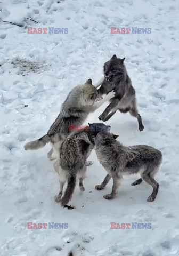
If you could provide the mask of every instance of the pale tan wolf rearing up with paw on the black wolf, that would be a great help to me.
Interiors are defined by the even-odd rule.
[[[47,134],[38,140],[28,142],[25,145],[25,149],[39,149],[44,147],[46,143],[51,142],[52,149],[48,152],[47,157],[50,160],[56,159],[61,143],[70,134],[69,125],[82,125],[88,114],[99,108],[105,101],[111,99],[113,95],[113,92],[104,98],[99,95],[97,89],[92,85],[92,79],[88,79],[83,85],[74,87],[63,102],[60,114]]]

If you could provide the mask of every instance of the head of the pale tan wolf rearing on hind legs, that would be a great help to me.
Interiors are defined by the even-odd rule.
[[[101,100],[102,97],[98,94],[97,89],[92,85],[92,79],[88,79],[84,84],[84,89],[82,93],[82,105],[91,106],[94,101],[97,102]]]

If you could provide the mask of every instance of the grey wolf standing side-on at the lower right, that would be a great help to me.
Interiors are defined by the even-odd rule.
[[[109,132],[99,132],[95,138],[95,151],[99,162],[108,172],[97,190],[104,189],[109,180],[113,179],[112,191],[105,195],[105,199],[112,199],[118,191],[123,175],[140,173],[141,178],[132,183],[132,186],[140,184],[143,180],[153,188],[147,201],[156,199],[159,184],[154,180],[154,175],[159,170],[162,154],[158,149],[147,145],[125,147],[116,140],[118,135]]]

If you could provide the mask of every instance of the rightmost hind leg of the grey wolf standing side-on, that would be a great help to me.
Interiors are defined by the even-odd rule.
[[[152,194],[148,197],[147,201],[148,202],[153,202],[154,199],[156,199],[157,193],[158,193],[158,189],[159,189],[159,184],[157,183],[156,180],[153,179],[153,176],[156,172],[153,172],[153,170],[151,170],[151,172],[149,171],[144,171],[142,173],[142,179],[147,182],[148,184],[150,184],[153,188]]]

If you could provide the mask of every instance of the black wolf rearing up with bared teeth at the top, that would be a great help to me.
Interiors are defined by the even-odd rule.
[[[112,90],[116,92],[115,97],[110,100],[110,104],[103,113],[99,116],[99,120],[108,121],[117,110],[121,113],[129,113],[137,118],[139,130],[143,131],[142,118],[137,110],[135,89],[132,86],[129,78],[124,59],[117,58],[116,55],[104,63],[103,71],[104,77],[95,85],[99,87],[99,95],[106,94]]]

